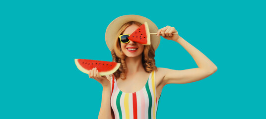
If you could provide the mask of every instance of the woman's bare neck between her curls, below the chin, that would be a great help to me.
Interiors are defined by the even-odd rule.
[[[127,64],[127,75],[133,75],[139,71],[145,71],[142,65],[142,54],[137,57],[127,57],[125,59]]]

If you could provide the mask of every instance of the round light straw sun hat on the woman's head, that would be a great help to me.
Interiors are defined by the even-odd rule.
[[[156,33],[159,29],[158,27],[148,18],[139,16],[139,15],[124,15],[116,18],[113,20],[107,27],[105,32],[105,42],[107,47],[110,51],[114,49],[114,42],[115,39],[118,37],[116,36],[118,30],[123,26],[125,23],[129,21],[137,21],[143,24],[145,21],[148,23],[150,33]],[[150,35],[150,42],[153,46],[154,50],[156,50],[160,44],[160,37],[157,35]]]

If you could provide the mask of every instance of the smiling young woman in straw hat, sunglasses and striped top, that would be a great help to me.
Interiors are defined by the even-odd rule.
[[[128,39],[141,24],[148,23],[151,45],[142,45]],[[163,87],[170,83],[191,83],[213,74],[217,67],[199,50],[185,41],[174,27],[158,30],[149,19],[139,15],[125,15],[112,21],[106,30],[106,44],[113,61],[120,68],[109,76],[100,76],[98,70],[89,71],[89,77],[103,86],[99,119],[156,119],[158,101]],[[160,36],[183,46],[196,61],[198,68],[173,70],[155,66],[155,50]]]

